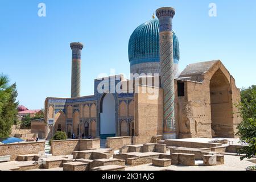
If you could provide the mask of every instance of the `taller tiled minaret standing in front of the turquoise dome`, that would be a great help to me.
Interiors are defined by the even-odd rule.
[[[163,88],[164,139],[175,139],[174,110],[174,47],[172,39],[172,18],[175,10],[172,7],[162,7],[156,10],[159,19],[160,42],[160,77]]]

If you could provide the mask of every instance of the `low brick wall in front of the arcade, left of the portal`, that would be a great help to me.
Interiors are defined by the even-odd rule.
[[[52,140],[52,155],[71,155],[73,151],[99,149],[100,139]]]

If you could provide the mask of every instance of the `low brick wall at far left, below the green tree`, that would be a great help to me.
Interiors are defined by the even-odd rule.
[[[19,155],[38,154],[44,152],[46,142],[20,142],[0,144],[0,156],[10,155],[11,160],[17,160]]]

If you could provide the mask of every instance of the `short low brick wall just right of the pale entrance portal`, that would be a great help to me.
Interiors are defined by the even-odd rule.
[[[131,137],[108,137],[106,139],[107,148],[119,149],[129,144],[131,144]]]

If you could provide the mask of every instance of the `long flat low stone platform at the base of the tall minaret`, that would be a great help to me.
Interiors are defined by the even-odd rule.
[[[165,140],[164,142],[167,146],[176,147],[187,147],[187,148],[210,148],[221,146],[220,143],[207,143],[207,142],[188,142],[181,140]]]

